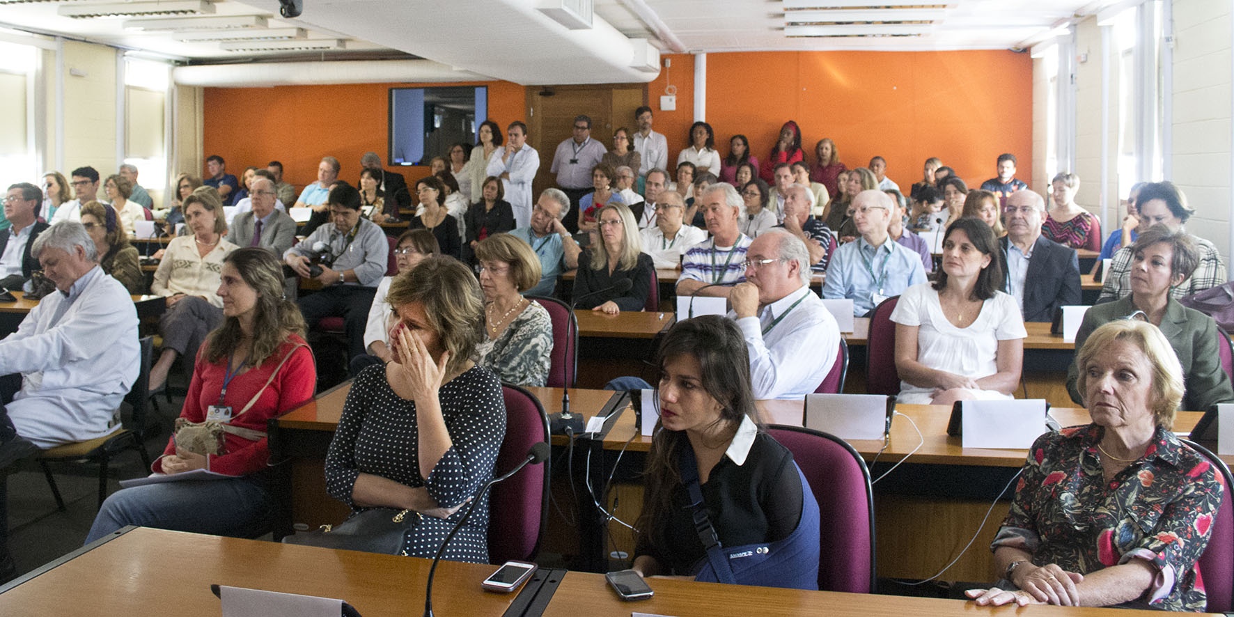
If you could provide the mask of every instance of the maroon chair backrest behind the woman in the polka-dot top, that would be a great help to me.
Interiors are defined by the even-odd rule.
[[[527,458],[527,450],[549,441],[548,415],[531,392],[501,386],[506,400],[506,438],[497,453],[494,475],[503,474]],[[549,462],[527,465],[495,485],[489,497],[489,561],[531,561],[539,552],[548,523]]]

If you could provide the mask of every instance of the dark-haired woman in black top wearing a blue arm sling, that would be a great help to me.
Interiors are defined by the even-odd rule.
[[[634,571],[718,580],[696,532],[702,515],[721,549],[776,542],[792,555],[737,582],[818,589],[818,503],[792,453],[758,424],[742,331],[716,315],[677,322],[658,364]]]

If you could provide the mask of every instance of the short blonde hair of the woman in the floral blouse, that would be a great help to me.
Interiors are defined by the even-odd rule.
[[[1153,366],[1153,417],[1156,426],[1169,429],[1174,426],[1174,416],[1182,402],[1183,381],[1182,364],[1174,353],[1174,347],[1156,326],[1139,320],[1116,320],[1095,329],[1085,341],[1076,355],[1080,369],[1077,386],[1088,406],[1088,364],[1103,355],[1116,341],[1134,344],[1148,358]]]

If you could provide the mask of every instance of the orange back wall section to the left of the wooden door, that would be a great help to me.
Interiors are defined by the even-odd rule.
[[[297,188],[317,180],[323,155],[337,157],[339,178],[355,183],[360,157],[369,151],[386,160],[389,152],[389,89],[443,84],[348,84],[276,88],[207,88],[205,153],[227,160],[239,174],[248,165],[283,162],[284,180]],[[521,85],[486,81],[444,85],[489,86],[489,116],[502,128],[527,114]],[[389,168],[408,181],[428,175],[427,167]],[[204,170],[196,170],[201,174]]]

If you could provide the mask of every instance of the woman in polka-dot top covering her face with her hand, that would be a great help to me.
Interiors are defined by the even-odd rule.
[[[471,360],[484,336],[480,285],[462,263],[432,257],[395,276],[386,299],[399,318],[395,360],[353,381],[326,455],[326,491],[353,513],[424,515],[404,536],[410,557],[433,557],[470,510],[443,557],[487,563],[489,492],[463,508],[492,479],[506,434],[501,383]]]

